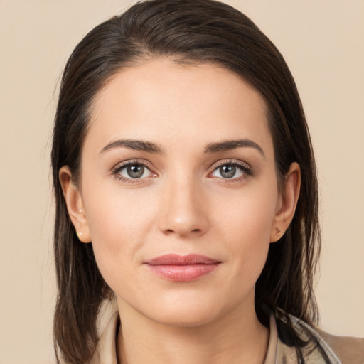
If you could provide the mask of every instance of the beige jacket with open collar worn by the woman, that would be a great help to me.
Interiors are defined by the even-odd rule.
[[[316,332],[305,323],[291,317],[296,323],[299,337],[309,344],[303,350],[307,364],[364,364],[364,338],[346,338]],[[118,364],[116,339],[120,325],[115,312],[100,337],[90,364]],[[276,319],[272,315],[269,325],[269,345],[264,364],[296,364],[296,350],[283,343],[278,336]]]

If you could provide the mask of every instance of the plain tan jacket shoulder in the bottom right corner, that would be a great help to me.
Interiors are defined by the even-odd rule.
[[[335,336],[318,331],[343,364],[364,364],[364,338]]]

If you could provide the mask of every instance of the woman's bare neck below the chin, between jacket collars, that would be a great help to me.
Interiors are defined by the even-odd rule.
[[[254,302],[254,300],[253,300]],[[120,364],[262,364],[269,330],[255,314],[235,307],[203,325],[175,326],[153,321],[127,304],[119,304]]]

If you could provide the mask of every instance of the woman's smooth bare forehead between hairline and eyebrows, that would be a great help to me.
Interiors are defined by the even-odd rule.
[[[203,144],[238,136],[262,144],[270,141],[266,115],[259,92],[230,70],[148,60],[123,68],[98,92],[87,139],[168,136]]]

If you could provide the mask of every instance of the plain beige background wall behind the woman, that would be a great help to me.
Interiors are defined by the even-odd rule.
[[[230,0],[282,51],[316,149],[321,326],[364,336],[364,1]],[[50,134],[77,41],[131,1],[0,0],[0,364],[54,363]]]

